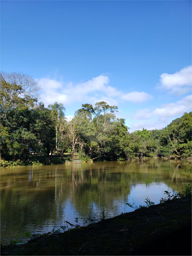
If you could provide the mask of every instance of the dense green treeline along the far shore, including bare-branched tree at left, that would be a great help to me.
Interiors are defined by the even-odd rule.
[[[45,108],[37,103],[38,83],[21,73],[0,74],[1,157],[27,159],[30,151],[51,159],[55,150],[88,161],[143,157],[191,157],[191,112],[161,130],[129,133],[117,106],[106,102],[82,104],[74,118],[65,118],[62,103]]]

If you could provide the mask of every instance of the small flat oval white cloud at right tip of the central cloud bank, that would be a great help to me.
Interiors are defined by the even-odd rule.
[[[153,96],[146,92],[130,92],[125,95],[122,95],[121,98],[123,100],[131,101],[135,103],[141,103],[143,101],[153,99]]]

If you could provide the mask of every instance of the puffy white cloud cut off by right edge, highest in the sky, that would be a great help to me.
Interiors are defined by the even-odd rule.
[[[182,95],[191,90],[192,66],[181,69],[174,74],[163,73],[160,75],[160,88],[170,94]]]

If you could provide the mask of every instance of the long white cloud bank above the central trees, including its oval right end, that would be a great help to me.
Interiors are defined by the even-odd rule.
[[[53,104],[55,101],[68,105],[74,102],[96,103],[106,101],[110,105],[118,105],[119,100],[141,103],[152,99],[152,95],[145,92],[131,92],[124,94],[115,87],[109,86],[109,78],[100,75],[93,77],[87,82],[81,82],[76,85],[73,83],[63,84],[56,80],[42,78],[39,80],[44,93],[42,101],[45,105]]]

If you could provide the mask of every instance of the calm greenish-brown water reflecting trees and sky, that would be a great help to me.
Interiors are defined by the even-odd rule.
[[[1,243],[24,239],[24,232],[108,217],[134,209],[125,203],[155,204],[164,190],[180,192],[191,185],[191,162],[147,159],[1,169]],[[70,226],[69,226],[70,227]]]

